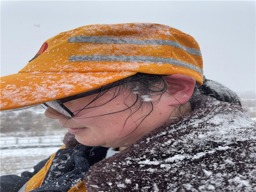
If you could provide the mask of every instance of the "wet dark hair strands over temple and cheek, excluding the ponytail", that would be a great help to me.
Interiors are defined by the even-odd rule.
[[[114,82],[114,83],[119,82],[122,84],[120,84],[119,86],[116,86],[114,88],[107,89],[98,94],[95,94],[92,98],[92,101],[90,101],[90,103],[88,103],[86,106],[84,106],[84,108],[73,112],[75,115],[74,117],[77,119],[80,117],[80,114],[84,114],[84,113],[80,113],[84,109],[91,108],[93,110],[93,108],[99,108],[99,107],[107,104],[108,102],[114,100],[117,96],[119,96],[120,94],[123,94],[125,92],[126,99],[130,96],[132,96],[132,98],[134,98],[134,101],[132,104],[128,105],[126,102],[126,99],[125,99],[124,100],[124,104],[126,105],[125,109],[123,109],[121,111],[116,111],[116,112],[112,112],[112,113],[108,113],[108,114],[99,115],[99,116],[104,116],[104,115],[109,115],[109,114],[114,114],[114,113],[119,113],[122,111],[130,110],[131,113],[127,117],[127,119],[126,119],[126,121],[127,121],[129,117],[131,117],[134,113],[136,113],[137,111],[139,111],[142,107],[144,107],[146,105],[146,107],[150,108],[150,112],[145,114],[144,116],[141,116],[139,119],[132,119],[133,122],[136,124],[136,129],[137,129],[138,126],[141,124],[141,122],[153,111],[154,105],[151,101],[151,97],[160,95],[159,99],[154,101],[154,104],[156,104],[160,100],[161,95],[167,91],[167,84],[164,81],[164,76],[165,75],[137,73],[133,76],[121,79],[117,82]],[[133,79],[133,81],[129,81],[130,79]],[[129,82],[123,84],[123,82],[126,82],[126,81],[129,81]],[[113,96],[110,100],[108,100],[104,103],[100,103],[98,105],[94,105],[92,107],[89,106],[91,103],[93,103],[95,100],[102,97],[104,94],[108,93],[110,90],[111,90],[111,93],[113,93]],[[89,114],[90,111],[87,112],[88,117],[81,117],[81,118],[98,117],[98,116],[90,116],[90,114]],[[123,129],[126,124],[126,121],[124,122]],[[133,131],[135,131],[136,129],[134,129]],[[120,134],[121,134],[121,132],[120,132]],[[128,135],[130,135],[130,134],[128,134]],[[126,135],[126,136],[128,136],[128,135]]]

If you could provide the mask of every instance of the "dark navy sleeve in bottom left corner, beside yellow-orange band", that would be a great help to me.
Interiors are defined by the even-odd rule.
[[[3,175],[0,178],[0,191],[1,192],[18,192],[20,188],[33,177],[37,172],[39,172],[46,162],[50,159],[44,159],[39,164],[34,166],[34,172],[25,171],[21,173],[21,176],[18,175]]]

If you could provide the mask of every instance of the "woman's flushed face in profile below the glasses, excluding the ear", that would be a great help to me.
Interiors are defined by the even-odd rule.
[[[59,119],[60,125],[68,128],[68,132],[74,134],[76,140],[81,144],[87,146],[127,147],[135,143],[141,136],[163,125],[172,113],[172,107],[164,105],[164,101],[168,99],[168,96],[164,97],[162,95],[160,101],[150,113],[152,109],[150,103],[139,108],[140,102],[138,102],[132,108],[127,109],[136,100],[136,94],[131,94],[131,91],[122,92],[111,100],[115,95],[114,91],[115,88],[112,88],[83,110],[81,109],[88,105],[95,95],[64,103],[74,114],[81,110],[72,119],[61,116],[51,108],[47,108],[45,116]],[[152,100],[154,101],[158,98],[156,96]],[[99,106],[105,102],[107,103]],[[148,115],[148,113],[150,114]],[[148,116],[143,120],[146,115]]]

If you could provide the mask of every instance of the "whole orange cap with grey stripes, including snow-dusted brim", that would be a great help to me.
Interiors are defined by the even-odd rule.
[[[98,24],[60,33],[44,42],[27,66],[1,77],[1,110],[61,99],[137,72],[183,74],[203,83],[195,39],[153,23]]]

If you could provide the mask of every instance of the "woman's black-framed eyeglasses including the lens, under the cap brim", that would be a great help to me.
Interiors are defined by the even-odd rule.
[[[129,79],[129,80],[124,81],[124,82],[119,82],[119,83],[116,83],[116,84],[108,85],[106,87],[101,87],[99,89],[95,89],[95,90],[92,90],[92,91],[80,93],[80,94],[73,95],[73,96],[70,96],[70,97],[66,97],[66,98],[63,98],[63,99],[48,101],[48,102],[45,102],[43,104],[46,107],[52,108],[54,111],[56,111],[57,113],[59,113],[63,116],[66,116],[68,118],[72,118],[72,117],[75,116],[74,113],[72,111],[70,111],[65,105],[63,105],[63,103],[66,103],[66,102],[72,101],[72,100],[76,100],[76,99],[79,99],[79,98],[82,98],[82,97],[86,97],[86,96],[89,96],[89,95],[93,95],[93,94],[96,94],[96,93],[101,93],[103,91],[106,91],[106,90],[111,89],[113,87],[116,87],[118,85],[126,84],[128,82],[132,82],[132,81],[135,81],[135,80],[137,80],[137,79],[135,79],[135,78],[134,79]]]

